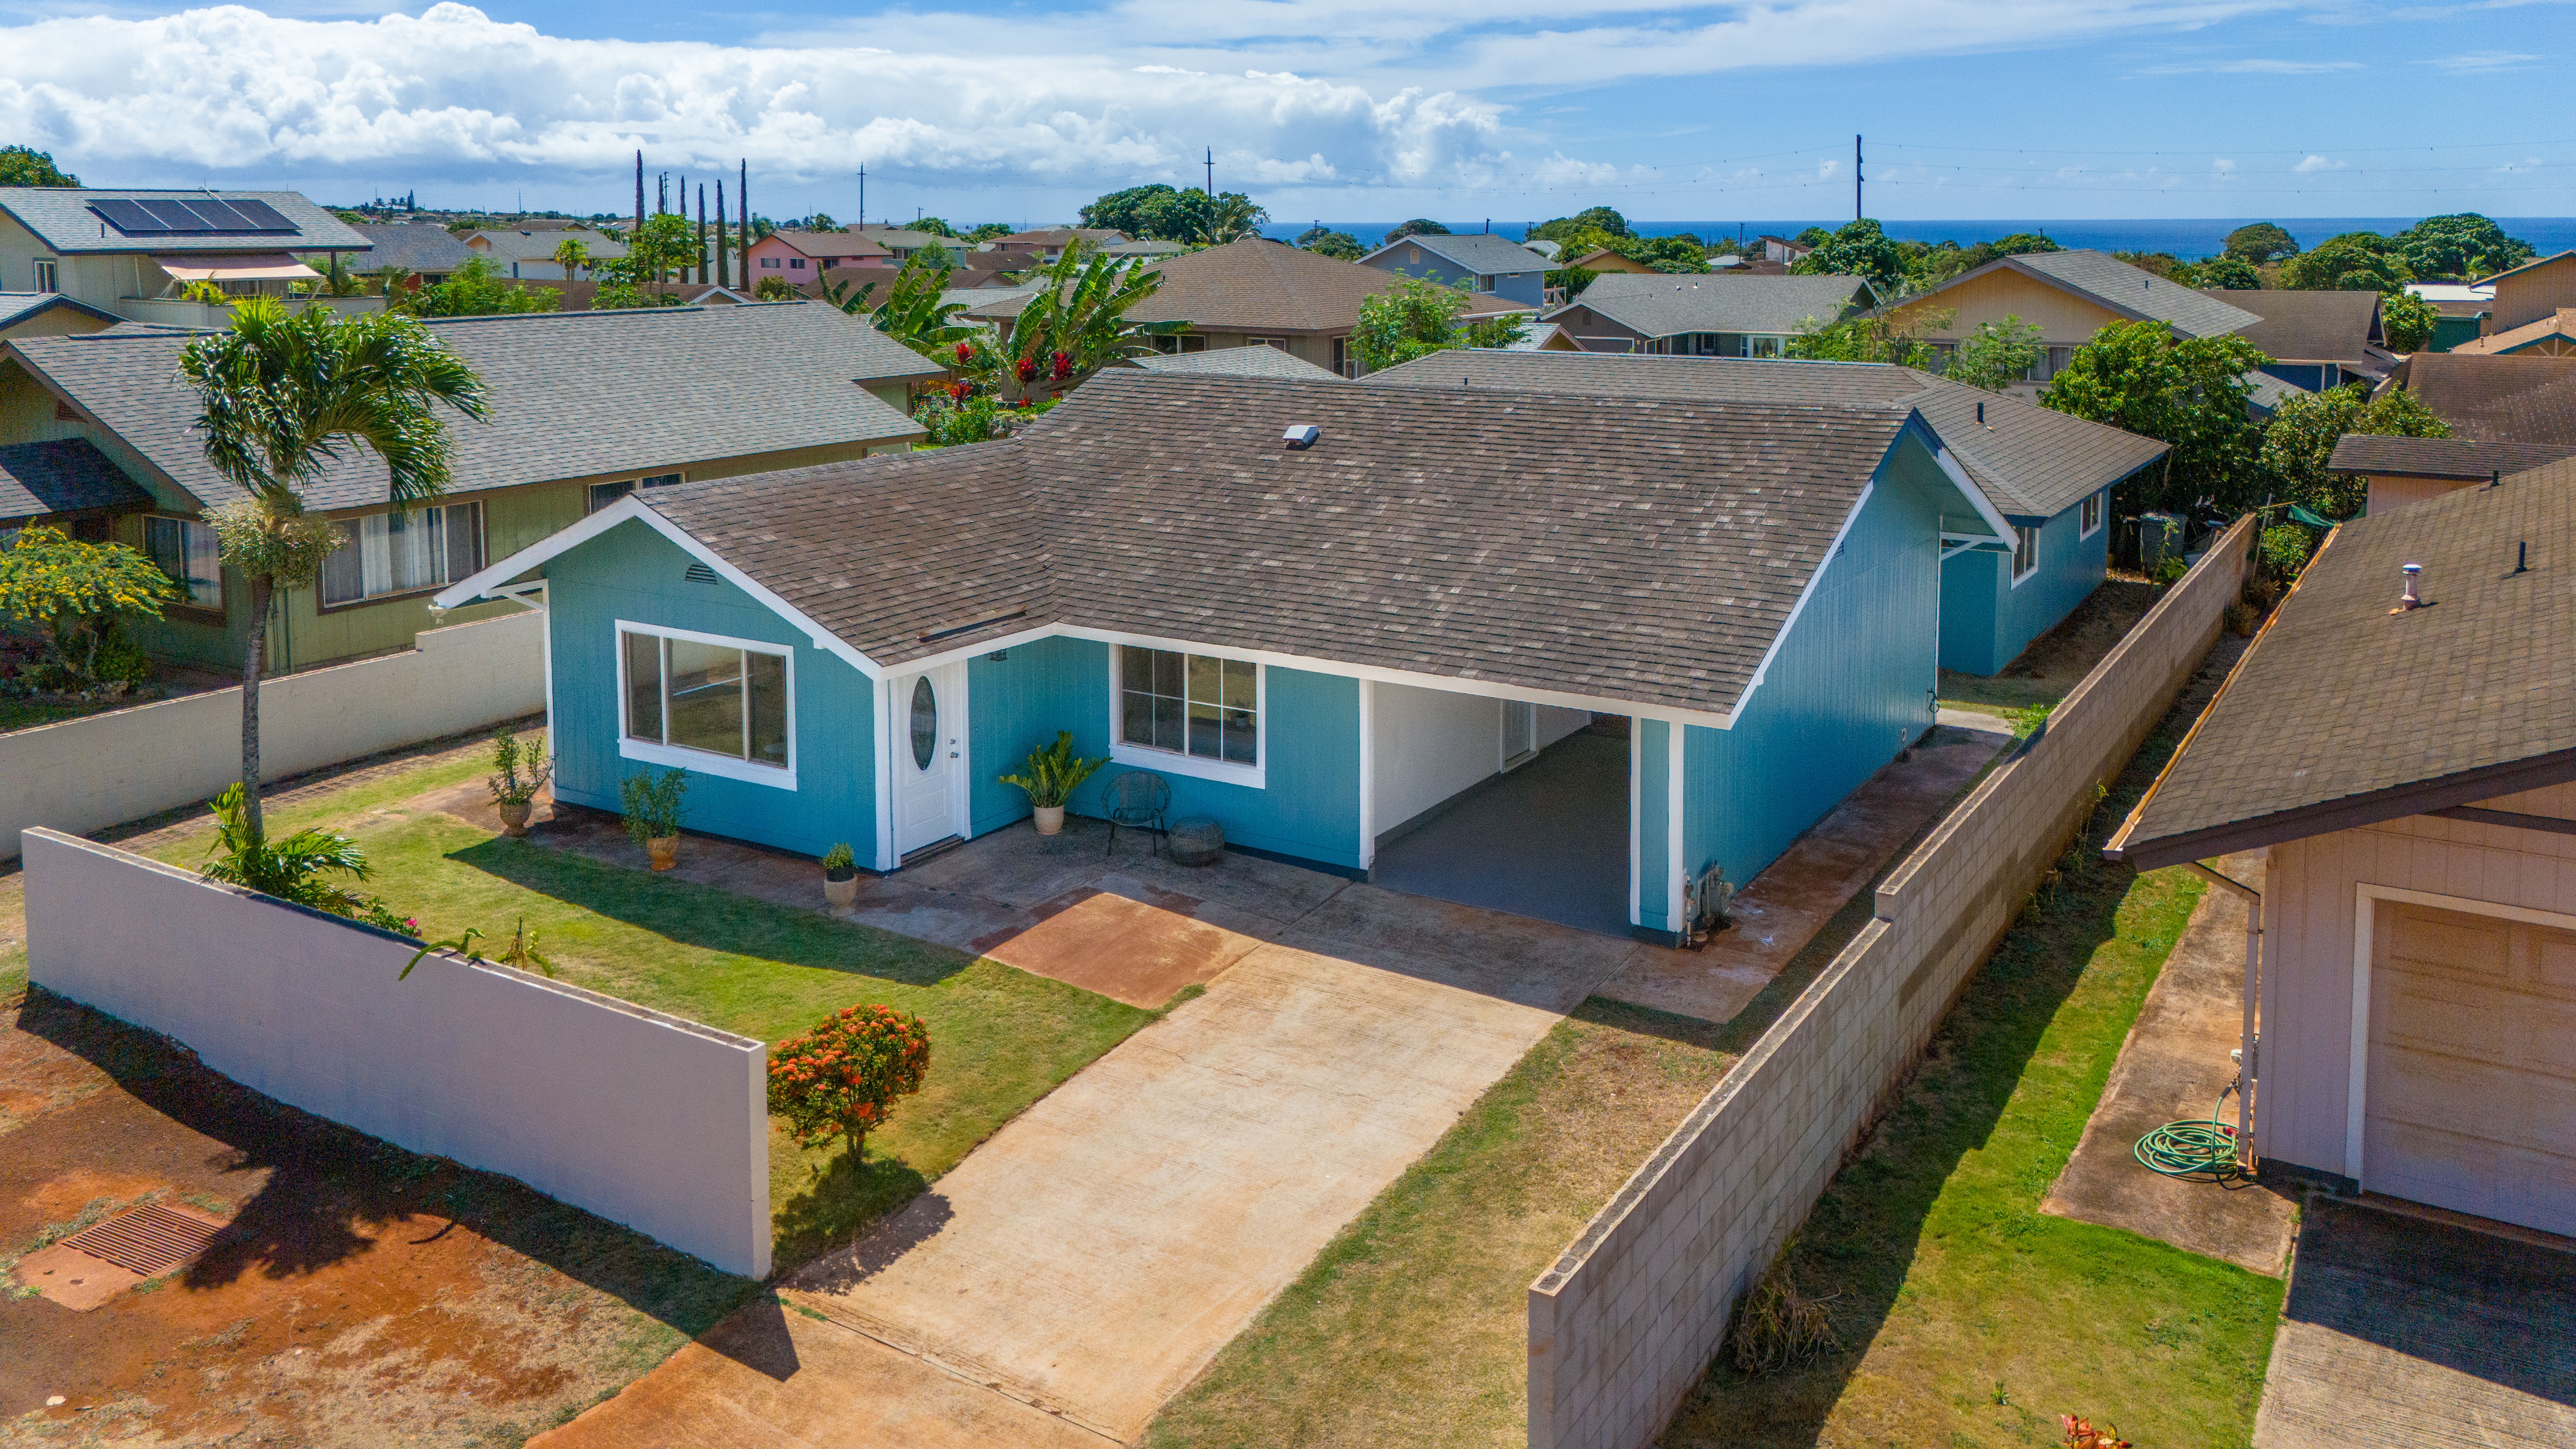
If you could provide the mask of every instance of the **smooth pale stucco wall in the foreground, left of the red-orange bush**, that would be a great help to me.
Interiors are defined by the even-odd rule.
[[[26,833],[28,980],[289,1106],[770,1271],[768,1047],[415,946],[54,830]]]

